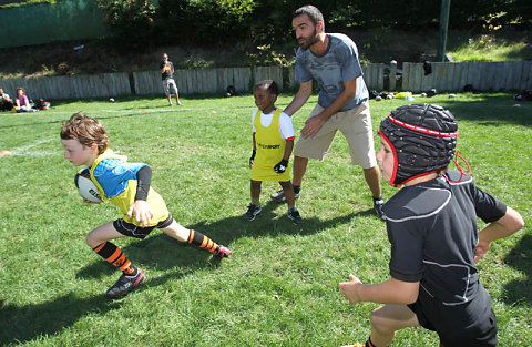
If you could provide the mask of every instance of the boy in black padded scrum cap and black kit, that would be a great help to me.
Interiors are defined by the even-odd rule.
[[[492,300],[475,263],[493,241],[522,228],[523,218],[462,172],[454,159],[461,159],[458,124],[448,110],[401,106],[379,133],[382,177],[405,187],[383,206],[391,278],[366,285],[350,275],[339,284],[350,304],[385,304],[371,313],[371,335],[357,346],[388,346],[396,330],[411,326],[434,330],[446,347],[495,346]],[[451,160],[458,171],[448,170]],[[477,217],[488,223],[480,231]]]

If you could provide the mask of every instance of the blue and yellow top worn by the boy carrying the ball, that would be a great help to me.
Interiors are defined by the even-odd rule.
[[[96,185],[102,201],[110,201],[117,206],[127,223],[137,224],[135,218],[127,216],[127,210],[135,202],[136,173],[146,166],[143,163],[127,163],[127,156],[106,150],[100,154],[90,167],[91,180]],[[170,213],[164,200],[150,187],[146,202],[153,212],[151,226],[165,221]]]

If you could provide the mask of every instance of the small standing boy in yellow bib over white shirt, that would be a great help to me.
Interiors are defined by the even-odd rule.
[[[259,82],[253,88],[257,110],[253,112],[252,203],[245,218],[255,220],[260,213],[260,184],[263,181],[279,182],[288,204],[288,217],[296,224],[303,223],[295,206],[294,187],[290,183],[288,161],[294,149],[291,119],[275,106],[279,94],[277,83],[272,80]]]

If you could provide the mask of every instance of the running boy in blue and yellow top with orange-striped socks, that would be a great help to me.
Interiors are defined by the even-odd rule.
[[[231,251],[226,247],[174,221],[164,200],[150,186],[152,169],[143,163],[127,163],[126,156],[111,151],[108,133],[95,119],[73,114],[61,127],[61,144],[64,157],[74,166],[90,167],[91,181],[102,201],[110,201],[123,214],[122,218],[86,235],[88,245],[123,273],[109,288],[108,297],[123,297],[145,280],[142,269],[134,267],[111,239],[125,236],[142,239],[154,228],[160,228],[170,237],[205,248],[214,256],[229,256]]]

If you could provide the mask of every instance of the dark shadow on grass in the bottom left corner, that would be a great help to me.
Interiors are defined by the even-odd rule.
[[[22,344],[41,335],[53,335],[86,314],[100,315],[115,308],[120,308],[120,302],[106,300],[103,295],[80,298],[73,293],[20,307],[6,306],[0,300],[0,345]]]

